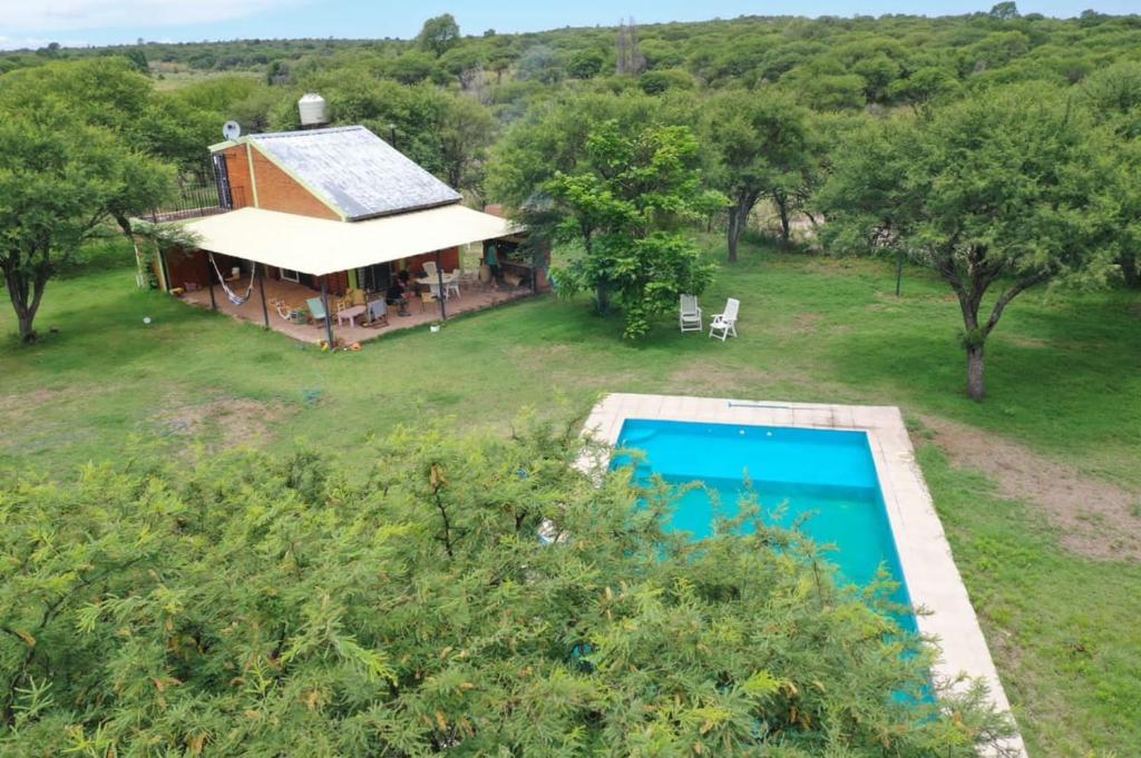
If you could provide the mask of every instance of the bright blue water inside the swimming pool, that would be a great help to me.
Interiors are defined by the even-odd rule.
[[[839,567],[842,580],[866,585],[882,565],[899,585],[892,600],[911,604],[864,432],[631,418],[617,446],[645,454],[636,470],[641,482],[658,474],[672,484],[705,484],[677,503],[670,529],[690,532],[695,539],[709,537],[712,494],[722,515],[735,515],[747,472],[767,520],[780,506],[784,514],[775,522],[779,525],[788,527],[807,514],[801,529],[817,544],[835,546],[827,557]],[[628,456],[621,456],[614,465],[630,464]],[[914,630],[912,617],[900,621]]]

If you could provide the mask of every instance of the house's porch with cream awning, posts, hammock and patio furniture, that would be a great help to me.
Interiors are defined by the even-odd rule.
[[[304,342],[363,342],[547,284],[545,261],[517,252],[519,229],[461,205],[359,222],[242,209],[181,226],[195,247],[161,256],[168,291]],[[386,298],[397,275],[403,308]]]

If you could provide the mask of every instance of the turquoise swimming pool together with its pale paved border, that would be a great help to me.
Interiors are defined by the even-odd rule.
[[[804,531],[837,546],[832,557],[844,580],[861,584],[882,563],[899,584],[895,600],[923,609],[900,621],[938,642],[932,679],[960,692],[981,679],[995,708],[1009,712],[899,408],[612,392],[583,433],[604,443],[580,459],[584,471],[614,465],[614,450],[629,446],[647,453],[638,476],[703,480],[726,515],[746,468],[762,508],[787,500],[786,519],[815,511]],[[707,535],[711,496],[689,498],[670,528]],[[1003,750],[1026,758],[1017,735]]]

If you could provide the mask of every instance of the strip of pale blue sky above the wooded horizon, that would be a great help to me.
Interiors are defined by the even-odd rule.
[[[742,15],[955,15],[987,10],[997,0],[0,0],[0,49],[194,42],[249,38],[411,38],[424,18],[451,13],[464,34],[560,26],[704,21]],[[1069,17],[1141,11],[1141,0],[1025,0],[1023,14]]]

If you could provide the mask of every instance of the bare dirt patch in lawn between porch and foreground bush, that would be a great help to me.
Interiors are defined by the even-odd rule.
[[[272,437],[281,419],[278,405],[240,398],[218,398],[207,404],[172,406],[152,421],[164,437],[201,439],[209,448],[258,447]]]

